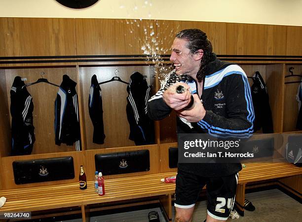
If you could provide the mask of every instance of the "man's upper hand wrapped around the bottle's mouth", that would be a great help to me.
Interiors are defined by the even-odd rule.
[[[176,87],[182,85],[186,88],[184,93],[176,93]],[[162,98],[164,102],[174,110],[181,110],[185,108],[190,102],[191,93],[189,85],[186,83],[175,83],[164,91]]]

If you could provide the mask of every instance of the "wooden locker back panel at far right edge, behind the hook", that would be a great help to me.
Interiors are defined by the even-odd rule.
[[[294,67],[293,73],[296,75],[302,75],[301,65],[285,65],[285,76],[290,75],[289,68]],[[285,78],[285,82],[301,81],[301,77],[293,76]],[[284,124],[283,131],[290,132],[295,131],[298,119],[298,101],[296,100],[296,95],[298,91],[299,83],[285,84],[284,89]]]

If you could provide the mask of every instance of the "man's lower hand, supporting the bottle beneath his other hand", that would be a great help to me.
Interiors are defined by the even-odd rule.
[[[197,123],[202,120],[205,116],[205,109],[200,101],[200,98],[197,94],[193,95],[194,98],[194,108],[191,110],[179,110],[177,115],[188,120],[189,123]]]

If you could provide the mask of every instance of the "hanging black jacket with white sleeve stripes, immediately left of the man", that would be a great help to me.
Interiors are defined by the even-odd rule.
[[[150,89],[141,73],[134,72],[130,76],[126,112],[130,125],[129,139],[133,140],[135,145],[154,143],[154,123],[147,115]]]

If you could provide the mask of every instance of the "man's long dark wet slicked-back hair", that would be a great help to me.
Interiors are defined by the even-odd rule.
[[[213,51],[212,44],[206,33],[199,29],[188,29],[178,32],[175,37],[188,41],[187,48],[191,54],[195,54],[199,49],[203,50],[200,67],[196,75],[197,80],[201,82],[205,76],[205,68],[210,62]]]

